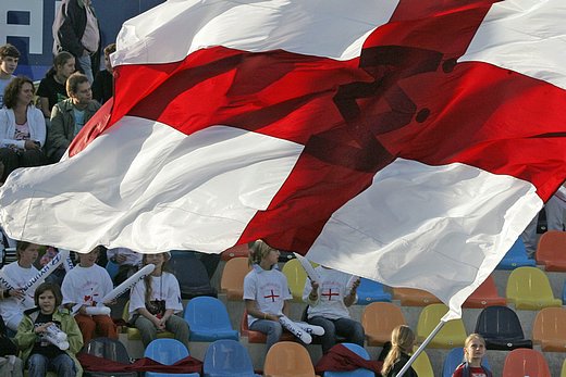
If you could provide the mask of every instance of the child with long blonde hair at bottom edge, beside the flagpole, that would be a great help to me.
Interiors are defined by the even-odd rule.
[[[391,332],[391,350],[383,362],[381,374],[383,377],[396,377],[409,361],[409,352],[413,351],[415,344],[415,334],[410,327],[399,325]],[[403,375],[405,377],[418,377],[417,373],[410,366]]]

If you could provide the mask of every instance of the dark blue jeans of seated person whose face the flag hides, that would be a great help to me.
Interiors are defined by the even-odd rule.
[[[319,337],[322,353],[329,352],[329,350],[336,344],[336,336],[346,338],[346,341],[349,343],[364,347],[366,334],[359,322],[350,318],[329,319],[315,316],[308,319],[308,323],[324,328],[324,335]]]

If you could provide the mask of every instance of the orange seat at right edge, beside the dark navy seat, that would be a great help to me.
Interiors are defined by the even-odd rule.
[[[566,352],[566,309],[544,307],[537,313],[532,341],[544,352]]]

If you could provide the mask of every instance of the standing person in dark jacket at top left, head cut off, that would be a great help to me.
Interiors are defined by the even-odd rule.
[[[53,21],[53,53],[71,52],[90,84],[100,66],[100,39],[91,0],[63,0]]]

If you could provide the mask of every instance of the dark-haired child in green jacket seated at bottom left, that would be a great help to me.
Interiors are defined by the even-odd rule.
[[[59,310],[61,300],[61,290],[57,285],[41,284],[34,296],[37,307],[25,311],[17,328],[15,340],[29,377],[45,377],[48,370],[57,372],[60,377],[79,376],[83,372],[75,359],[75,353],[83,347],[83,336],[71,313]],[[63,351],[45,338],[51,325],[66,335],[69,349]]]

